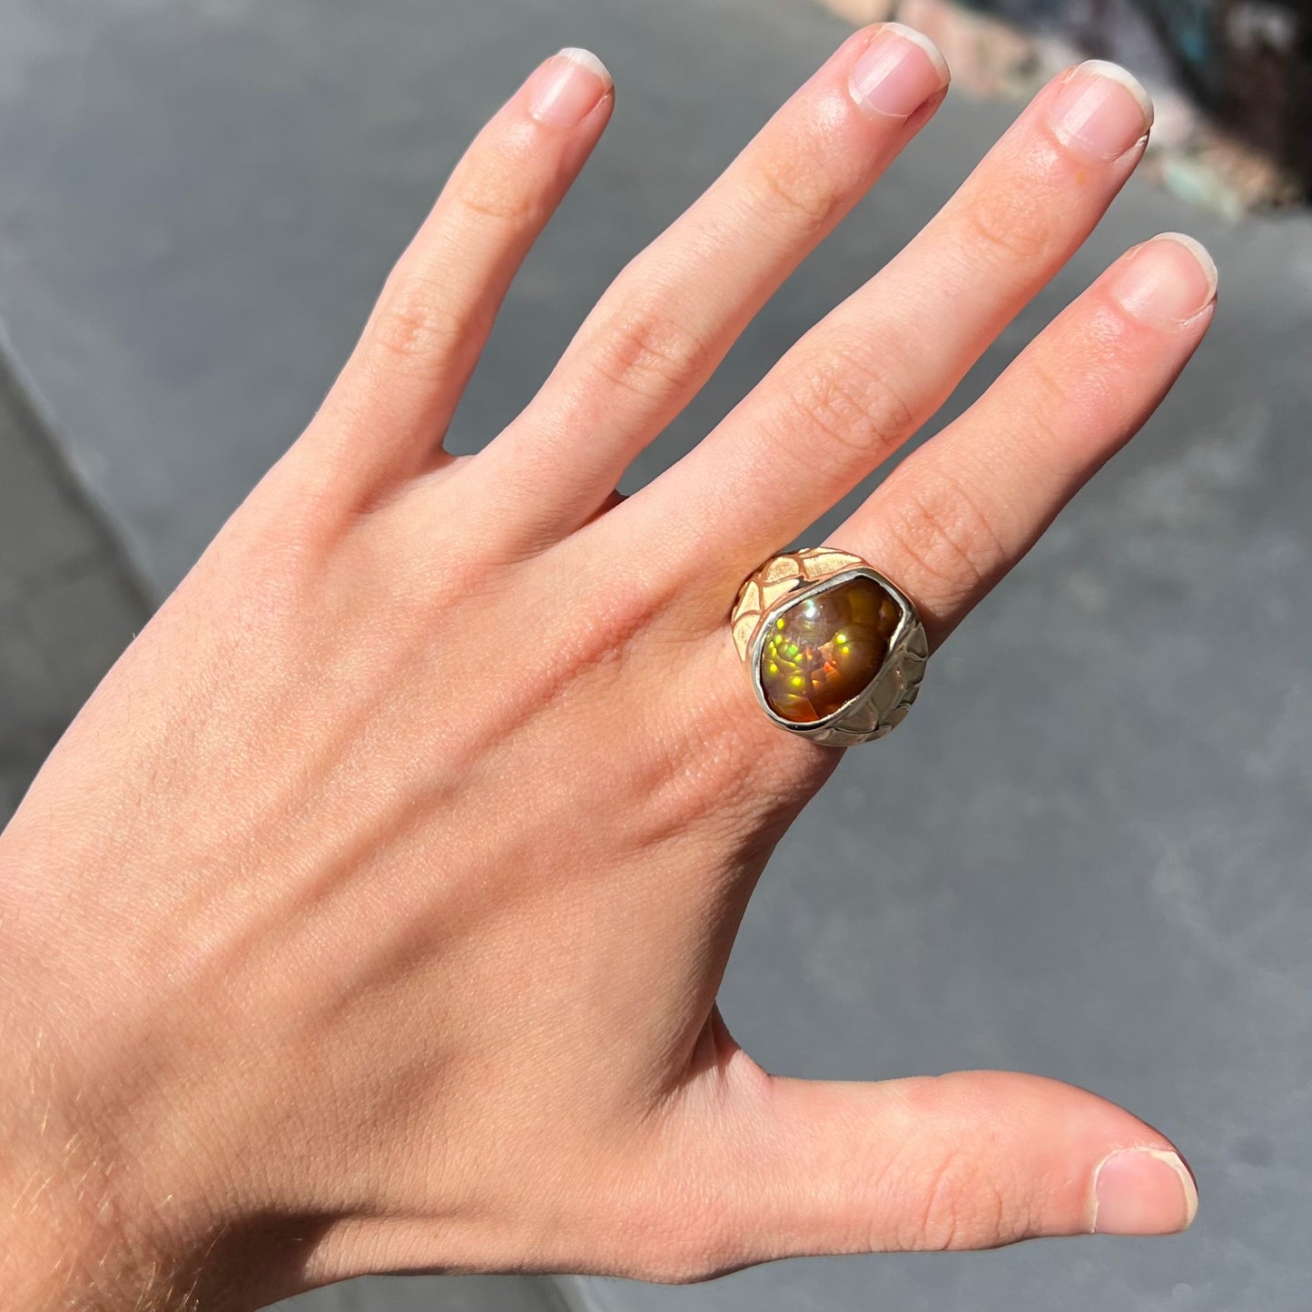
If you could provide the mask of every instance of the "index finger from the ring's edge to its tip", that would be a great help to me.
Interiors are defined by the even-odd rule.
[[[937,644],[1148,419],[1212,319],[1216,266],[1162,234],[1123,256],[834,534]]]

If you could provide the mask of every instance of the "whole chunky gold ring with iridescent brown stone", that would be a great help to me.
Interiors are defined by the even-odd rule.
[[[861,556],[771,556],[739,589],[733,644],[781,728],[829,747],[883,737],[916,701],[929,659],[911,598]]]

